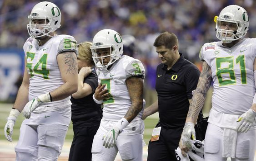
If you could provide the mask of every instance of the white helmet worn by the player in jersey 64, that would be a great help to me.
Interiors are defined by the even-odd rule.
[[[31,14],[28,16],[28,33],[32,38],[50,36],[49,33],[60,28],[61,13],[58,6],[51,2],[40,2],[34,6]],[[45,24],[34,24],[33,19],[44,19]],[[48,21],[48,22],[47,22]],[[43,29],[39,29],[43,28]],[[51,36],[50,36],[51,37]]]

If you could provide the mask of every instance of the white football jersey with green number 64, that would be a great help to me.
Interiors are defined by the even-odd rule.
[[[30,75],[29,100],[53,91],[63,85],[57,63],[57,56],[61,52],[71,51],[77,54],[76,41],[69,35],[56,35],[44,45],[39,46],[35,38],[28,38],[23,46],[26,69]],[[70,97],[45,103],[35,109],[35,112],[55,111],[70,105]]]

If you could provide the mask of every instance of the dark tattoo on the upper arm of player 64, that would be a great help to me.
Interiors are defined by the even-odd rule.
[[[69,66],[69,68],[66,71],[67,73],[70,74],[77,74],[78,69],[77,69],[77,58],[74,56],[74,54],[72,52],[65,52],[64,53],[65,56],[65,65]]]

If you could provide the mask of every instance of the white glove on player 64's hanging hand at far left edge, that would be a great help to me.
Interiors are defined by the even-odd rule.
[[[17,117],[19,116],[20,111],[18,109],[11,109],[10,115],[7,118],[7,123],[5,124],[5,138],[9,141],[12,142],[12,132],[13,132],[13,127],[16,122]]]

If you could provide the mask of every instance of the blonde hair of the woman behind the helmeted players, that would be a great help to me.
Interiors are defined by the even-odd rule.
[[[90,46],[92,46],[92,43],[89,41],[79,43],[77,45],[77,48],[78,48],[78,56],[77,57],[80,60],[84,60],[86,62],[90,62],[91,64],[94,64]]]

